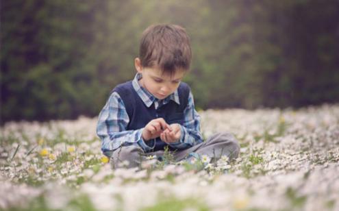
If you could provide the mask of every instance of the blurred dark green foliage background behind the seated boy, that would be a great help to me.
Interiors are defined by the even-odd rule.
[[[136,73],[142,31],[191,38],[197,108],[339,101],[339,1],[1,1],[1,123],[96,116]]]

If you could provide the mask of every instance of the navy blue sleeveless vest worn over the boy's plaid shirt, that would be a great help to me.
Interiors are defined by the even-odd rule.
[[[160,105],[158,109],[155,109],[154,103],[147,108],[136,90],[134,90],[132,81],[119,84],[112,92],[118,92],[125,104],[129,117],[127,130],[140,129],[145,127],[152,119],[160,117],[162,117],[168,125],[172,123],[182,125],[184,123],[184,110],[188,103],[188,95],[190,94],[190,87],[184,82],[181,82],[178,88],[180,104],[178,105],[175,101],[171,100],[165,105]],[[154,140],[147,141],[146,143],[150,147],[154,146]],[[160,140],[160,138],[156,138],[153,151],[164,150],[166,145],[167,144]],[[170,146],[168,146],[168,149],[174,150]]]

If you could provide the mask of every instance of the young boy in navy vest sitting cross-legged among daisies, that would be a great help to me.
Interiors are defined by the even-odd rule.
[[[143,32],[139,50],[136,77],[116,86],[99,114],[97,135],[113,168],[124,160],[131,167],[147,156],[160,159],[166,146],[176,161],[202,155],[237,158],[240,147],[231,134],[203,142],[192,92],[181,82],[192,58],[185,29],[152,25]]]

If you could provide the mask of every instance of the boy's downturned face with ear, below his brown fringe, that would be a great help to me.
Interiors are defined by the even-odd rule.
[[[186,71],[177,70],[173,75],[170,75],[157,68],[142,67],[138,58],[135,63],[136,71],[142,74],[140,85],[158,99],[165,99],[175,92],[186,73]]]

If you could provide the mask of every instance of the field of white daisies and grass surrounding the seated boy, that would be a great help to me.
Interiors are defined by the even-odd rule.
[[[339,105],[199,113],[203,136],[238,138],[238,159],[113,170],[96,118],[6,123],[0,210],[339,210]]]

